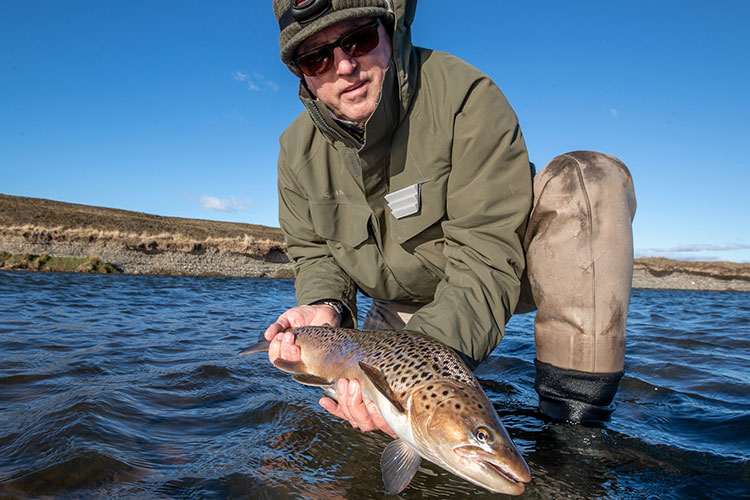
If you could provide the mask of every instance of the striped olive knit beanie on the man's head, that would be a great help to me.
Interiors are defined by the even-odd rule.
[[[281,29],[281,60],[301,77],[299,68],[292,64],[299,44],[340,21],[392,16],[393,7],[392,0],[273,0],[273,13]]]

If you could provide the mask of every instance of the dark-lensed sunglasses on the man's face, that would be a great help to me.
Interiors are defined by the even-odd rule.
[[[335,42],[321,45],[296,56],[292,62],[307,76],[322,75],[333,67],[333,49],[341,47],[350,57],[360,57],[375,50],[380,43],[379,19],[364,24],[343,35]]]

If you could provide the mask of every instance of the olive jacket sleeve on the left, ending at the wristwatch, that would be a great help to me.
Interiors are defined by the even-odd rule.
[[[356,285],[336,264],[325,240],[315,233],[308,199],[288,163],[283,136],[278,174],[279,223],[287,251],[294,261],[297,304],[311,304],[322,299],[339,300],[349,311],[348,318],[344,315],[342,326],[356,327]]]

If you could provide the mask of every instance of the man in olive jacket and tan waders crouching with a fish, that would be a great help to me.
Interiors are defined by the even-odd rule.
[[[300,305],[265,332],[271,361],[299,359],[289,328],[356,327],[359,289],[373,298],[363,328],[422,331],[475,367],[522,295],[521,308],[538,307],[542,411],[606,420],[632,280],[625,166],[562,155],[534,178],[532,197],[515,113],[486,75],[411,45],[416,0],[273,5],[306,110],[280,140],[279,221]],[[323,407],[392,434],[358,381],[337,389]]]

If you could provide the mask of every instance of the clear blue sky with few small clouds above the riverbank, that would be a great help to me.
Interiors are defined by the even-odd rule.
[[[302,108],[271,5],[0,0],[0,193],[278,226]],[[744,0],[422,0],[413,39],[498,83],[538,167],[622,159],[637,256],[750,262],[748,20]]]

